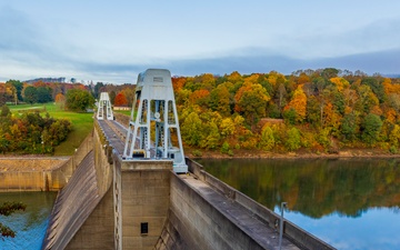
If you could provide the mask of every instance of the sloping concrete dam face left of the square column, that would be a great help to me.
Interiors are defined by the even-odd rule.
[[[99,128],[88,142],[93,150],[57,197],[42,249],[114,249],[111,148]]]

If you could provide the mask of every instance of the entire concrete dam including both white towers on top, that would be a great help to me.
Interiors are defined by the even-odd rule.
[[[133,103],[126,127],[102,93],[77,167],[46,176],[64,186],[43,250],[334,249],[184,158],[169,71],[139,74]]]

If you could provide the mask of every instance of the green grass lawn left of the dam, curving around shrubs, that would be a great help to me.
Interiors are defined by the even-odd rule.
[[[61,110],[57,104],[37,103],[37,104],[19,104],[9,106],[13,114],[27,112],[30,110],[38,110],[42,116],[46,112],[56,119],[67,119],[72,123],[72,131],[68,134],[66,141],[61,142],[54,149],[54,156],[72,156],[74,150],[79,148],[82,141],[93,129],[93,113],[76,113]]]

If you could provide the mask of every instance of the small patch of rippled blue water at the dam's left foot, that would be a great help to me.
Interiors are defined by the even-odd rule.
[[[40,250],[46,234],[49,216],[57,192],[0,192],[0,203],[21,201],[26,211],[18,211],[9,217],[0,216],[0,222],[17,232],[16,238],[0,239],[0,249]]]

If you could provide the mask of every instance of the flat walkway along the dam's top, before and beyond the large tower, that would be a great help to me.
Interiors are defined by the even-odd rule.
[[[100,128],[103,130],[109,143],[121,156],[124,148],[124,134],[127,129],[116,121],[98,121]],[[279,249],[279,233],[278,230],[271,228],[268,223],[253,214],[249,209],[244,208],[233,199],[226,197],[198,179],[192,173],[179,174],[191,189],[198,192],[210,206],[214,207],[228,220],[246,232],[263,249]],[[223,229],[223,226],[221,226]],[[216,229],[210,229],[216,230]],[[233,237],[233,236],[232,236]],[[282,249],[297,250],[300,249],[291,241],[283,238]]]

